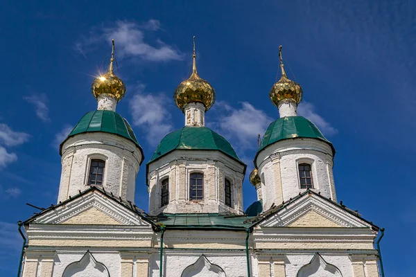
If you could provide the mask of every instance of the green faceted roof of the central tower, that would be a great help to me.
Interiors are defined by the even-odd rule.
[[[189,127],[167,134],[159,143],[155,153],[148,163],[163,157],[173,150],[218,150],[243,163],[231,144],[220,134],[207,127]]]

